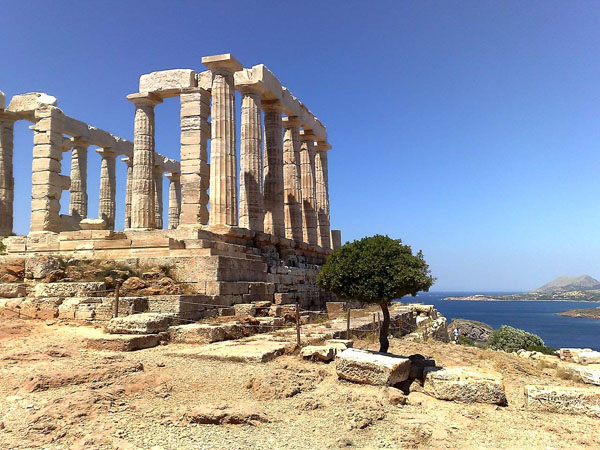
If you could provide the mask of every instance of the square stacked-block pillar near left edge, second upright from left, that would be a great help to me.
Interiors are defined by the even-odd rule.
[[[70,185],[60,174],[65,116],[51,105],[40,106],[34,116],[30,231],[60,232],[60,197]]]

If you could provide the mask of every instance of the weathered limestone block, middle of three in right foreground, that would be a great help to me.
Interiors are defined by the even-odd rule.
[[[423,392],[440,400],[506,404],[502,375],[467,367],[425,367]]]

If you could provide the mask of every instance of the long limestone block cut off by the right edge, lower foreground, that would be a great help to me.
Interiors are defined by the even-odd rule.
[[[533,411],[600,418],[600,389],[529,385],[525,387],[525,404]]]

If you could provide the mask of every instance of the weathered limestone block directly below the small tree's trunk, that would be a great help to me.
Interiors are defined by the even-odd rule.
[[[355,383],[393,386],[408,379],[410,360],[401,356],[349,348],[335,358],[339,378]]]

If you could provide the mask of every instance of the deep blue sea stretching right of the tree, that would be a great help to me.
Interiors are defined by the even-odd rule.
[[[584,347],[600,351],[600,320],[557,314],[569,309],[599,307],[599,302],[444,300],[450,296],[514,293],[516,292],[424,292],[416,297],[404,297],[400,301],[432,304],[448,319],[448,323],[459,318],[478,320],[493,328],[510,325],[537,334],[549,347]]]

